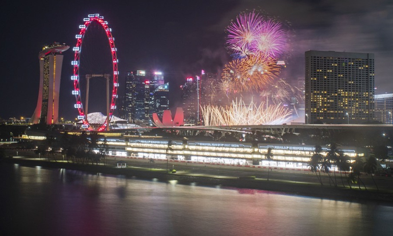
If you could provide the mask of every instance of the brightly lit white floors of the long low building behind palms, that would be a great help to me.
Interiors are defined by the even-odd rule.
[[[139,158],[167,159],[168,140],[149,138],[126,138],[127,156]],[[262,165],[277,168],[296,168],[309,170],[309,161],[314,154],[315,146],[264,144],[253,145],[246,142],[212,142],[171,140],[172,150],[169,159],[193,161],[205,164],[227,165]],[[272,149],[274,161],[266,160],[268,148]],[[321,146],[322,155],[330,150]],[[366,155],[363,148],[340,146],[344,155],[353,162],[355,157]],[[337,171],[336,166],[332,166]]]

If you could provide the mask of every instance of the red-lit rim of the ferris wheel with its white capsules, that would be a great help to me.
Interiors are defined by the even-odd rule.
[[[79,112],[79,117],[78,119],[82,119],[83,125],[82,127],[87,129],[87,130],[93,130],[89,122],[87,121],[87,114],[84,114],[84,109],[83,109],[83,103],[81,99],[81,90],[79,89],[79,62],[80,62],[80,52],[82,49],[82,41],[84,38],[84,33],[90,26],[90,24],[96,21],[98,22],[103,29],[105,30],[107,37],[108,37],[108,42],[111,47],[111,53],[112,53],[112,68],[113,68],[113,89],[112,89],[112,101],[110,105],[110,110],[109,110],[109,116],[110,119],[112,119],[112,114],[114,109],[116,108],[116,98],[117,98],[117,87],[118,87],[118,70],[117,70],[117,56],[116,56],[116,47],[114,46],[114,39],[112,37],[112,30],[111,28],[108,27],[108,22],[104,21],[104,17],[100,16],[99,14],[89,14],[87,18],[84,18],[84,24],[80,25],[79,28],[81,29],[79,34],[77,34],[75,37],[77,39],[76,46],[73,48],[73,51],[75,52],[74,60],[71,62],[71,64],[74,66],[74,73],[73,76],[71,77],[71,80],[74,82],[74,90],[72,93],[76,97],[76,104],[74,105],[75,108],[78,109]],[[109,125],[107,124],[108,119],[102,124],[101,127],[99,127],[97,130],[102,131],[105,130],[106,126]]]

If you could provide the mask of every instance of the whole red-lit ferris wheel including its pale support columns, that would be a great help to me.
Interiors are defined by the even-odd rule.
[[[72,90],[72,94],[75,95],[76,98],[76,103],[74,104],[74,107],[78,110],[79,116],[78,119],[82,120],[82,128],[86,130],[94,130],[94,128],[89,124],[87,120],[87,104],[88,104],[88,89],[87,89],[87,94],[86,94],[86,101],[85,101],[85,110],[84,111],[84,106],[82,103],[82,97],[81,97],[81,89],[80,87],[80,56],[82,52],[82,42],[84,39],[84,34],[86,30],[89,28],[90,24],[92,22],[97,22],[98,25],[100,25],[106,33],[106,36],[108,38],[109,46],[111,48],[111,54],[112,54],[112,76],[113,76],[113,81],[112,81],[112,95],[109,93],[109,74],[102,74],[102,75],[89,75],[89,77],[86,76],[87,78],[87,83],[88,83],[88,78],[91,78],[92,76],[102,76],[107,79],[107,119],[106,121],[97,128],[97,131],[103,131],[103,130],[109,130],[109,123],[112,119],[113,111],[116,109],[116,98],[117,98],[117,88],[119,86],[118,84],[118,70],[117,70],[117,56],[116,56],[116,47],[114,46],[114,38],[112,36],[112,29],[108,27],[108,22],[104,21],[104,17],[100,16],[99,14],[89,14],[87,18],[84,18],[84,24],[79,26],[80,32],[75,36],[77,39],[76,46],[73,47],[73,51],[75,52],[74,60],[71,61],[71,64],[74,66],[74,73],[71,76],[71,80],[74,83],[74,90]],[[109,102],[111,100],[111,102]],[[86,113],[85,113],[86,112]]]

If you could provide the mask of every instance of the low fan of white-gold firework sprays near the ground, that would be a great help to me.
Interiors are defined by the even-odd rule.
[[[232,101],[232,104],[226,107],[204,106],[201,112],[206,126],[282,124],[291,115],[281,104],[266,108],[263,102],[259,105],[253,102],[246,105],[241,99],[239,102]]]

